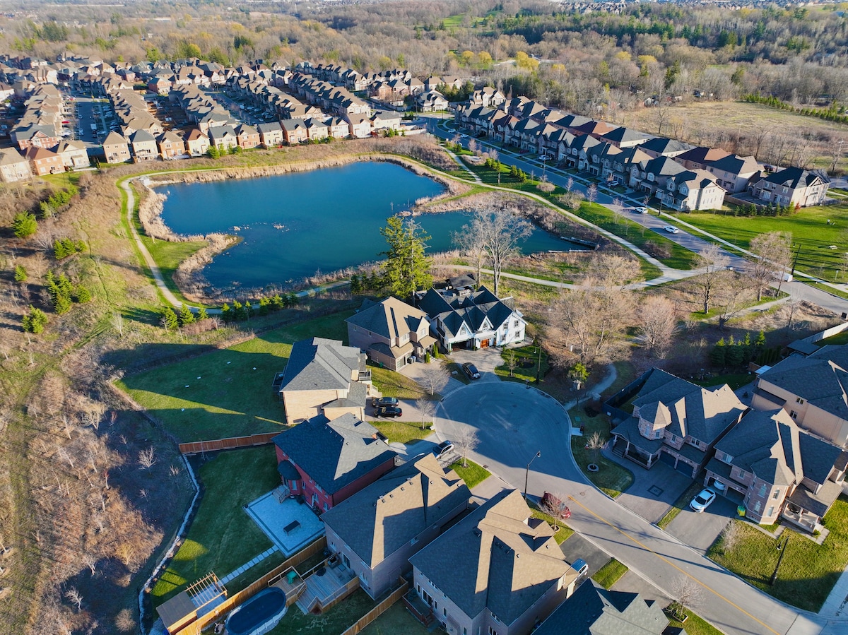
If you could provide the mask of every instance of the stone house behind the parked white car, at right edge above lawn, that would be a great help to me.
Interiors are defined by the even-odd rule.
[[[783,518],[812,533],[842,493],[846,463],[845,450],[801,430],[786,410],[750,410],[716,443],[705,482],[761,525]]]

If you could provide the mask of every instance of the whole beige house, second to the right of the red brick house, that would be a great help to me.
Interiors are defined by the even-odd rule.
[[[421,606],[450,635],[527,635],[578,577],[517,490],[496,494],[410,563]]]

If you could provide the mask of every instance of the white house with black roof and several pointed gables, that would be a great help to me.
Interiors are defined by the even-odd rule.
[[[430,332],[446,352],[524,341],[527,322],[512,298],[500,299],[486,287],[430,288],[418,297],[430,318]]]

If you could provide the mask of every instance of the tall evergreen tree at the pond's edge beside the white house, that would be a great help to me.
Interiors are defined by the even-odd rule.
[[[388,242],[383,265],[385,281],[398,298],[412,298],[417,289],[432,285],[430,259],[424,254],[430,237],[414,220],[404,223],[398,216],[386,220],[380,233]]]

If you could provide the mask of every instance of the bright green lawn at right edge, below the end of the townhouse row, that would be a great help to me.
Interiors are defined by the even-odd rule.
[[[788,231],[792,234],[793,254],[798,254],[798,269],[834,281],[837,271],[845,275],[842,256],[845,248],[843,232],[848,229],[848,204],[828,205],[800,209],[788,216],[731,216],[718,212],[684,214],[680,218],[709,231],[711,234],[733,242],[742,248],[750,246],[750,239],[768,231]],[[831,220],[831,225],[828,225]],[[836,249],[830,249],[836,245]]]

